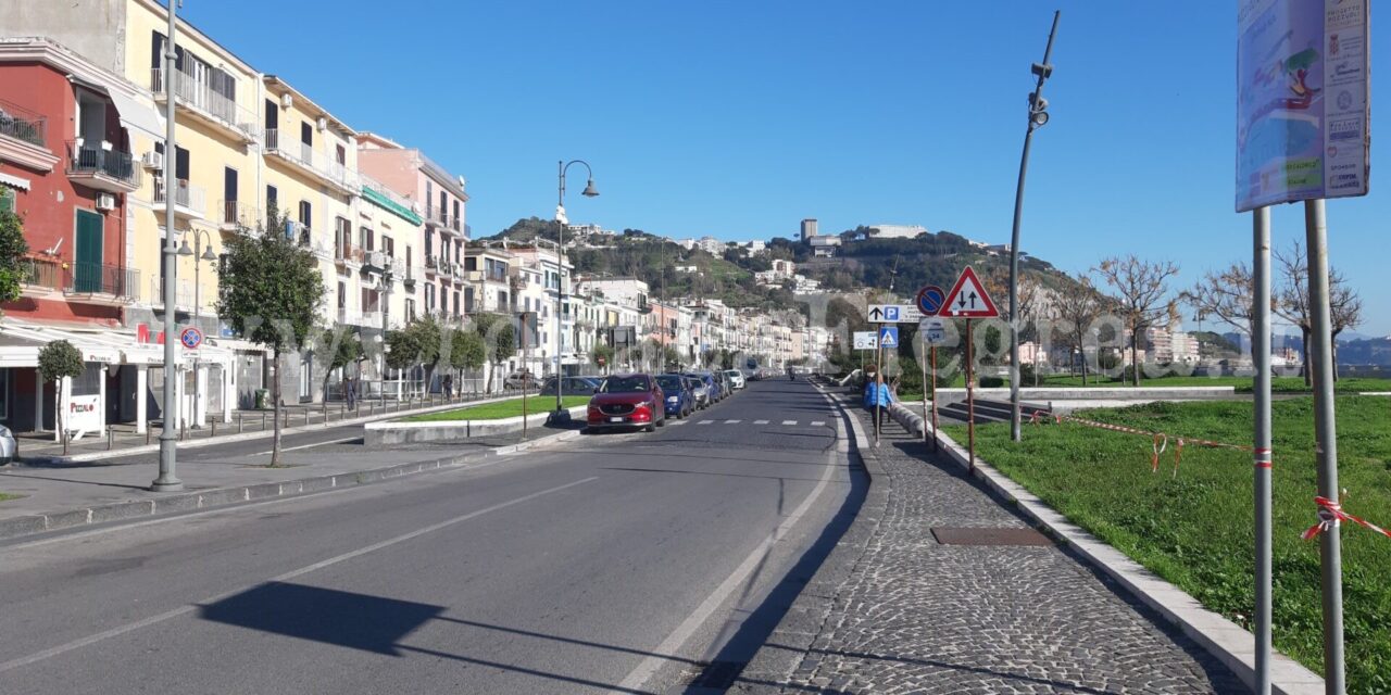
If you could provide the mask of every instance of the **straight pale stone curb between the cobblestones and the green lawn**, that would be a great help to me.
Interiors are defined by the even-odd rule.
[[[950,436],[940,432],[938,436],[947,456],[963,468],[968,468],[970,453]],[[1014,502],[1025,517],[1066,542],[1093,567],[1125,587],[1141,603],[1178,627],[1193,642],[1227,666],[1248,688],[1255,687],[1255,635],[1207,610],[1178,587],[1072,524],[1022,485],[982,461],[979,456],[975,459],[974,477],[985,482],[996,495]],[[1319,674],[1280,652],[1271,655],[1270,678],[1271,689],[1278,694],[1321,695],[1324,692],[1324,681]]]

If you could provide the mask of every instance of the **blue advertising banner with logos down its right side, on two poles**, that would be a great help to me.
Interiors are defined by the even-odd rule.
[[[1367,193],[1369,3],[1238,4],[1238,213]]]

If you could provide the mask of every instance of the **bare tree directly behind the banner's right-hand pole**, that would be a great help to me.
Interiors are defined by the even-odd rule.
[[[1309,307],[1309,256],[1299,242],[1294,242],[1288,252],[1276,252],[1276,261],[1280,263],[1283,282],[1273,293],[1273,307],[1281,318],[1299,327],[1303,346],[1299,374],[1305,378],[1305,385],[1312,386],[1309,338],[1313,335],[1313,321]],[[1331,267],[1328,268],[1328,318],[1333,324],[1333,381],[1338,381],[1338,334],[1362,322],[1362,296],[1348,286],[1346,278],[1341,272]]]

